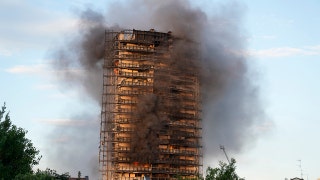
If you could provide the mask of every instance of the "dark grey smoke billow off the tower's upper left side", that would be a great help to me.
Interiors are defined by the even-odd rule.
[[[104,17],[92,10],[81,14],[79,32],[66,46],[54,51],[60,79],[100,102],[102,59],[104,57]]]

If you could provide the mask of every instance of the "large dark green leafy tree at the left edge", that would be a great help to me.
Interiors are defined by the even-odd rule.
[[[41,156],[25,136],[27,131],[15,126],[6,113],[5,104],[0,110],[0,179],[11,180],[18,174],[32,174]]]

